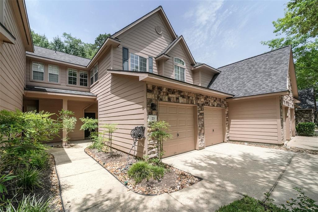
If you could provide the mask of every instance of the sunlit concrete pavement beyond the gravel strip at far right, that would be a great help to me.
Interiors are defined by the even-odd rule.
[[[318,137],[295,136],[286,145],[318,151]]]

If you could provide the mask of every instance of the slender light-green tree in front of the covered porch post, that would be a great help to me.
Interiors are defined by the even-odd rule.
[[[62,120],[63,130],[65,130],[66,132],[66,136],[62,138],[62,142],[64,146],[66,146],[68,140],[70,140],[70,138],[68,137],[68,134],[70,132],[73,132],[73,129],[75,128],[75,124],[76,124],[76,118],[73,116],[71,117],[70,115],[74,115],[74,113],[72,111],[63,110],[63,109],[59,111],[59,119]]]

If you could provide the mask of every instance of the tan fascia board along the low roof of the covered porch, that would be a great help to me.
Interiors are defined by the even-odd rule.
[[[88,95],[24,90],[24,96],[26,97],[39,97],[39,94],[45,95],[45,98],[49,98],[49,99],[57,99],[58,97],[82,99],[83,101],[91,101],[91,100],[95,101],[97,99],[96,96],[88,96]]]

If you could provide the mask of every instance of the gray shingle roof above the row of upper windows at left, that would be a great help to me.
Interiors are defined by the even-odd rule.
[[[69,62],[76,65],[87,66],[88,63],[91,61],[90,59],[79,57],[75,55],[66,54],[64,52],[59,52],[48,48],[43,48],[39,46],[34,46],[34,52],[26,52],[29,55],[35,55],[39,57],[45,57],[53,60],[58,60],[62,62]]]

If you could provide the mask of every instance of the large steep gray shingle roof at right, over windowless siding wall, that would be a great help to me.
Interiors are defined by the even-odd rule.
[[[218,68],[208,88],[235,97],[287,91],[291,47],[282,47]]]

